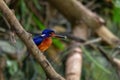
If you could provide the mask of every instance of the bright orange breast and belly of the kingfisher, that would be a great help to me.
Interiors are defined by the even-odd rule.
[[[45,50],[47,50],[50,45],[52,44],[52,39],[51,38],[46,38],[42,41],[42,43],[40,45],[38,45],[38,48],[44,52]]]

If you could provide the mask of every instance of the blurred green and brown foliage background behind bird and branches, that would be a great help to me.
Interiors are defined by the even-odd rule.
[[[11,0],[8,5],[14,9],[17,19],[26,31],[33,36],[40,34],[45,28],[52,28],[56,32],[71,34],[71,24],[47,0]],[[80,0],[91,11],[105,19],[108,29],[120,38],[120,0]],[[14,31],[13,31],[14,32]],[[3,80],[46,80],[41,66],[30,56],[21,40],[6,24],[4,16],[0,14],[0,76]],[[96,38],[92,33],[89,39]],[[65,61],[72,40],[53,39],[53,45],[45,52],[54,69],[65,76]],[[120,51],[111,48],[104,42],[97,43],[110,56],[119,58]],[[62,53],[64,52],[64,53]],[[115,67],[90,47],[83,48],[83,67],[81,80],[120,80]]]

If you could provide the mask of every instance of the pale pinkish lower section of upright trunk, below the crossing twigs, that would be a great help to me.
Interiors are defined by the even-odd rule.
[[[82,51],[74,48],[66,61],[66,80],[80,80],[82,69]]]

